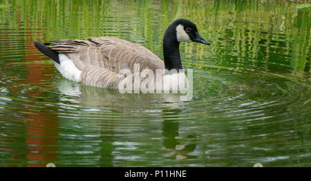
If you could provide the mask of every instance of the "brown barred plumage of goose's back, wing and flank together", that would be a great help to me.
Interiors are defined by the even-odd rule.
[[[63,39],[46,43],[49,48],[66,54],[77,69],[80,81],[89,86],[117,88],[125,78],[120,70],[133,73],[133,65],[140,64],[140,71],[149,68],[164,69],[164,62],[150,50],[124,39],[93,37],[88,40]]]

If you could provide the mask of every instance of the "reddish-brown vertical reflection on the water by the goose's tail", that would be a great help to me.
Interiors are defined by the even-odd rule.
[[[32,42],[32,33],[27,32],[28,41]],[[37,50],[32,44],[27,46],[28,53],[35,52]],[[39,55],[26,55],[25,61],[40,61]],[[35,68],[31,64],[27,64],[25,70],[28,71],[28,76],[25,81],[32,84],[33,86],[40,86],[44,81],[44,75],[49,75],[54,72],[54,68],[44,66],[36,66]],[[42,87],[34,91],[28,91],[28,97],[37,97],[44,93],[46,90],[51,89],[50,87]],[[34,110],[29,110],[33,113]],[[57,116],[51,116],[38,112],[37,115],[32,115],[32,119],[26,127],[26,134],[29,135],[26,138],[26,143],[31,146],[27,146],[26,149],[29,151],[26,158],[28,161],[41,161],[41,162],[53,162],[58,160],[58,120]],[[48,153],[50,152],[50,153]],[[27,166],[46,166],[46,163],[28,164]]]

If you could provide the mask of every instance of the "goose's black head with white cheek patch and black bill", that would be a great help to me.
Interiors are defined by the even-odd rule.
[[[168,30],[172,30],[173,28],[175,28],[176,30],[176,41],[178,42],[193,41],[209,45],[209,41],[207,41],[200,35],[200,33],[198,32],[198,28],[196,28],[196,25],[187,19],[177,19],[176,21],[171,23]],[[165,34],[167,33],[169,33],[169,31]]]

